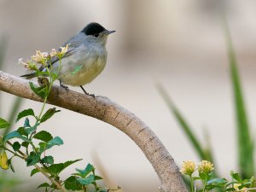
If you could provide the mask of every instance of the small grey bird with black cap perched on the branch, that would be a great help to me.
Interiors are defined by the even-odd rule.
[[[68,45],[66,54],[61,58],[61,68],[58,73],[61,87],[68,90],[67,85],[80,86],[84,94],[94,96],[86,92],[83,85],[89,84],[96,79],[106,66],[108,56],[106,44],[108,35],[113,32],[116,31],[109,31],[97,22],[90,22],[61,46]],[[54,56],[49,63],[48,67],[54,73],[57,72],[60,59]],[[41,66],[39,70],[44,72],[46,67]],[[35,76],[36,72],[21,75],[20,77],[32,79]]]

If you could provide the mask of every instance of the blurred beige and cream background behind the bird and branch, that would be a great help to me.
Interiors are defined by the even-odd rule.
[[[29,59],[36,49],[59,48],[86,24],[97,21],[109,30],[108,63],[86,90],[108,96],[135,113],[152,128],[181,165],[199,161],[156,89],[162,84],[202,143],[211,143],[218,172],[236,171],[236,137],[232,89],[223,18],[230,26],[250,125],[256,119],[256,2],[253,0],[0,0],[0,38],[6,42],[3,71],[20,76],[26,70],[18,59]],[[70,87],[81,92],[79,88]],[[13,98],[2,93],[1,117],[6,118]],[[41,107],[23,101],[21,109]],[[17,125],[18,126],[18,125]],[[143,152],[124,133],[97,119],[61,109],[42,129],[64,140],[51,150],[55,162],[83,158],[74,168],[100,160],[123,191],[156,191],[158,177]],[[204,137],[208,132],[210,141]],[[252,131],[255,132],[255,129]],[[34,191],[46,179],[29,177],[30,168],[15,160],[19,191]]]

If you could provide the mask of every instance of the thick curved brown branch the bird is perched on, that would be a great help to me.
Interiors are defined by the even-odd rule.
[[[32,92],[26,79],[20,79],[2,71],[0,71],[0,90],[43,102]],[[93,98],[73,90],[67,91],[59,86],[54,86],[51,90],[48,103],[100,119],[123,131],[143,150],[154,167],[154,171],[160,178],[160,191],[187,191],[172,156],[148,125],[145,125],[135,114],[110,101],[107,97],[96,96]]]

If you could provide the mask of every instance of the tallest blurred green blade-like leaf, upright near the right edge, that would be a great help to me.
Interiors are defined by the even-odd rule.
[[[236,108],[236,135],[238,141],[238,161],[241,177],[254,175],[254,150],[253,134],[250,131],[246,105],[239,70],[237,67],[236,54],[233,48],[231,35],[228,26],[225,24],[226,40],[230,60],[230,75],[233,86],[234,103]]]

